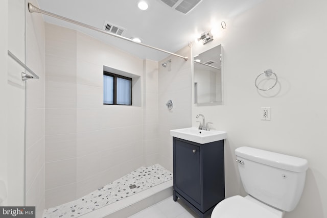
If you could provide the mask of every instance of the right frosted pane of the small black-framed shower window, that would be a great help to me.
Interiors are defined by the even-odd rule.
[[[117,104],[131,105],[131,81],[117,78]]]

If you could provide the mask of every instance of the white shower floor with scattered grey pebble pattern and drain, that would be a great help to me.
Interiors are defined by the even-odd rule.
[[[42,217],[78,217],[171,179],[172,173],[159,164],[140,167],[80,199],[45,209]]]

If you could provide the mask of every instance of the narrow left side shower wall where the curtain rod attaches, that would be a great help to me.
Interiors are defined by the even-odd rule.
[[[39,76],[26,82],[26,205],[36,206],[36,217],[44,210],[44,83],[45,26],[41,14],[31,14],[26,1],[26,64]]]

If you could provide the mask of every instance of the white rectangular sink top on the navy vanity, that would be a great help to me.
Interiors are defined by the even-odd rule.
[[[176,138],[205,144],[213,141],[223,140],[226,138],[227,133],[224,131],[206,131],[199,130],[196,127],[189,127],[184,129],[171,130],[170,135]]]

